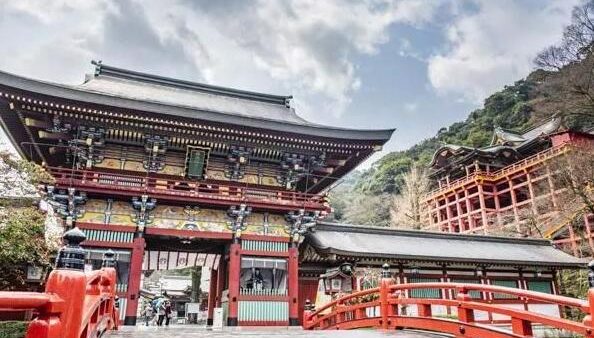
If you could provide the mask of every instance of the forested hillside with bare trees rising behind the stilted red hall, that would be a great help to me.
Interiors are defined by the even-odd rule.
[[[332,217],[341,222],[389,225],[394,196],[402,192],[411,166],[426,168],[444,144],[489,145],[495,126],[522,131],[557,115],[567,128],[594,128],[594,26],[587,24],[592,22],[593,9],[592,1],[576,8],[563,41],[536,58],[537,69],[489,96],[465,121],[441,128],[435,136],[389,153],[370,169],[352,174],[347,184],[331,192]]]

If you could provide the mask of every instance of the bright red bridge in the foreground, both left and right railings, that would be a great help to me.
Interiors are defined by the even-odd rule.
[[[85,252],[80,247],[84,234],[74,228],[64,235],[68,243],[58,254],[56,269],[50,274],[44,293],[0,292],[0,311],[33,310],[33,321],[26,338],[89,338],[117,330],[116,272],[113,252],[107,252],[100,270],[84,272]],[[594,263],[589,265],[590,290],[587,300],[545,293],[460,283],[393,284],[389,267],[384,266],[380,286],[332,301],[319,309],[306,308],[306,330],[378,328],[422,329],[456,337],[499,338],[532,337],[533,325],[594,337]],[[410,290],[454,291],[454,299],[412,298]],[[506,295],[525,302],[555,304],[575,308],[585,315],[583,321],[554,317],[534,311],[506,307],[473,299],[471,292]],[[440,316],[432,306],[457,310],[456,316]],[[416,311],[410,311],[416,307]],[[503,318],[496,324],[479,320],[475,311]],[[414,313],[414,315],[413,315]]]

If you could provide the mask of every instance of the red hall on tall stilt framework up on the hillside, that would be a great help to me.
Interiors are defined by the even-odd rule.
[[[488,234],[507,228],[521,234],[522,224],[534,221],[559,248],[592,256],[594,215],[580,205],[564,210],[569,192],[558,179],[563,168],[555,165],[576,146],[594,146],[594,133],[568,130],[560,118],[521,133],[496,128],[488,147],[442,146],[431,162],[437,187],[424,201],[425,230]],[[568,212],[583,221],[572,224]]]

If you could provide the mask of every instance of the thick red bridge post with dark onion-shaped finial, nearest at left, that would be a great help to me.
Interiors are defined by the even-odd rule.
[[[58,295],[66,304],[61,337],[78,338],[87,288],[85,251],[80,243],[86,237],[80,229],[73,228],[64,233],[63,239],[66,245],[58,252],[56,270],[50,273],[45,292]]]

